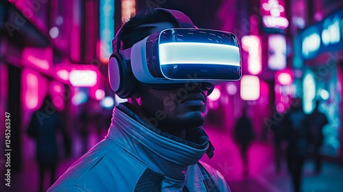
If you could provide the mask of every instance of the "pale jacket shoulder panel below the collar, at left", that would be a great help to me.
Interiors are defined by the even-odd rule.
[[[104,140],[71,165],[49,191],[133,191],[144,170],[113,141]]]

